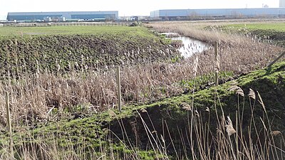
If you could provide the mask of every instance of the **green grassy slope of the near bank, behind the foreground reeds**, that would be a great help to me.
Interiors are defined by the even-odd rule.
[[[162,121],[167,122],[170,134],[172,135],[171,139],[174,139],[174,142],[179,145],[180,137],[177,135],[177,127],[182,130],[187,128],[187,111],[182,109],[183,104],[187,103],[191,105],[192,96],[194,96],[194,106],[197,108],[200,116],[207,117],[208,113],[205,112],[206,107],[209,107],[214,115],[214,106],[220,104],[217,105],[218,113],[221,113],[220,108],[222,107],[224,109],[224,114],[229,115],[234,119],[237,110],[238,96],[234,92],[229,92],[229,87],[234,83],[244,90],[245,101],[243,102],[243,98],[239,96],[240,107],[244,104],[244,128],[247,128],[247,125],[249,124],[249,119],[247,119],[247,117],[249,117],[250,114],[250,105],[247,94],[249,88],[252,88],[254,91],[259,91],[270,119],[274,119],[274,123],[271,126],[272,130],[279,130],[284,134],[285,62],[281,62],[274,65],[269,70],[257,70],[248,75],[244,75],[235,81],[226,82],[219,87],[211,87],[206,90],[198,91],[194,95],[187,94],[179,97],[171,97],[150,105],[125,106],[123,107],[123,112],[120,114],[116,110],[113,110],[113,112],[109,111],[95,114],[93,117],[76,119],[76,117],[78,117],[77,115],[76,117],[71,116],[70,119],[61,122],[38,125],[37,129],[31,130],[31,135],[29,136],[26,132],[17,132],[14,141],[16,145],[22,143],[23,139],[19,139],[19,133],[21,133],[22,137],[25,137],[24,139],[26,139],[27,142],[31,142],[31,140],[34,141],[34,139],[41,139],[41,141],[49,142],[51,144],[56,142],[59,146],[68,146],[72,144],[74,148],[83,146],[86,149],[92,148],[98,152],[100,152],[100,146],[108,146],[110,145],[109,143],[114,142],[116,144],[113,149],[118,150],[119,152],[128,150],[125,145],[122,146],[121,143],[118,142],[118,139],[114,136],[115,134],[120,139],[123,139],[123,137],[128,135],[131,143],[135,144],[135,139],[137,139],[140,142],[139,146],[141,149],[150,149],[147,148],[147,135],[142,126],[142,121],[138,116],[138,112],[140,112],[147,126],[150,127],[150,130],[155,130],[158,135],[162,134],[163,131],[161,127]],[[214,97],[216,92],[219,95],[220,101],[215,101]],[[147,110],[150,119],[152,119],[154,128],[152,128],[152,124],[150,124],[148,115],[145,112],[142,112],[142,108]],[[256,102],[254,112],[257,119],[262,117],[262,107],[259,102]],[[216,127],[214,120],[211,122],[212,129],[214,129],[213,132],[215,132]],[[234,120],[233,123],[235,123]],[[122,132],[122,124],[125,127],[125,132]],[[257,122],[257,125],[259,124],[260,122]],[[138,137],[135,137],[134,128],[136,132],[140,133]],[[110,137],[106,138],[107,134],[110,135]],[[106,139],[113,139],[113,142],[106,141]],[[165,141],[169,143],[170,138],[167,138],[166,136]],[[6,142],[4,141],[2,144],[6,144]],[[98,155],[100,155],[100,153]],[[150,154],[150,156],[151,155],[152,154]]]

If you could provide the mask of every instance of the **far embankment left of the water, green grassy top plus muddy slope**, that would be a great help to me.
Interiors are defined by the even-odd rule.
[[[61,73],[170,60],[178,53],[169,44],[143,27],[1,27],[0,73]]]

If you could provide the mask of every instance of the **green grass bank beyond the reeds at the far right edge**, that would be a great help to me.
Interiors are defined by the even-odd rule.
[[[237,31],[257,36],[264,42],[273,41],[276,45],[285,46],[285,23],[244,23],[222,26],[229,31]]]

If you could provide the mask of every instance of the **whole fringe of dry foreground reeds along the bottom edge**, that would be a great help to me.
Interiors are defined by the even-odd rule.
[[[249,90],[248,95],[244,95],[242,88],[233,85],[229,88],[229,92],[236,92],[240,103],[237,105],[235,116],[229,117],[224,114],[222,106],[219,105],[219,94],[213,93],[215,96],[214,111],[206,110],[197,111],[195,106],[184,103],[183,109],[187,112],[187,125],[179,127],[177,130],[180,137],[173,137],[168,129],[166,121],[161,122],[161,127],[165,132],[154,132],[157,129],[153,127],[150,114],[146,110],[138,112],[145,129],[148,139],[145,141],[150,144],[145,150],[145,156],[140,154],[140,149],[130,146],[128,134],[124,133],[124,123],[120,122],[124,139],[119,140],[123,149],[116,150],[113,146],[113,139],[106,137],[104,139],[109,143],[102,143],[97,149],[86,147],[82,139],[81,145],[74,146],[72,137],[65,139],[69,144],[61,146],[58,140],[61,137],[56,135],[48,136],[54,139],[52,142],[46,142],[45,139],[38,137],[32,142],[19,140],[17,148],[14,151],[15,159],[274,159],[281,160],[285,158],[284,151],[284,135],[278,130],[272,129],[272,119],[267,114],[266,106],[263,103],[259,92]],[[251,108],[251,116],[244,117],[244,103],[249,100]],[[193,97],[193,102],[195,97]],[[259,105],[257,105],[259,104]],[[262,113],[257,110],[260,110]],[[218,112],[221,111],[221,112]],[[259,112],[259,113],[257,113]],[[143,116],[142,114],[147,114]],[[262,114],[261,117],[260,114]],[[244,120],[249,120],[249,124],[244,124]],[[273,120],[274,121],[274,120]],[[157,123],[157,122],[155,122]],[[160,130],[160,129],[158,129]],[[29,132],[29,131],[26,131]],[[110,132],[110,134],[113,134]],[[112,135],[111,137],[116,137]],[[43,136],[46,137],[46,136]],[[33,142],[34,141],[34,142]],[[177,146],[177,141],[180,145]],[[118,142],[118,141],[117,141]],[[19,147],[20,144],[20,147]],[[0,147],[1,159],[11,159],[9,146]],[[128,151],[128,154],[124,153]],[[14,159],[12,158],[12,159]]]

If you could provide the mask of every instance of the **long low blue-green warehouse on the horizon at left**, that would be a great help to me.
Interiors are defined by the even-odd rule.
[[[68,19],[118,19],[118,11],[65,11],[65,12],[9,12],[8,21],[38,21],[38,20],[58,20]]]

